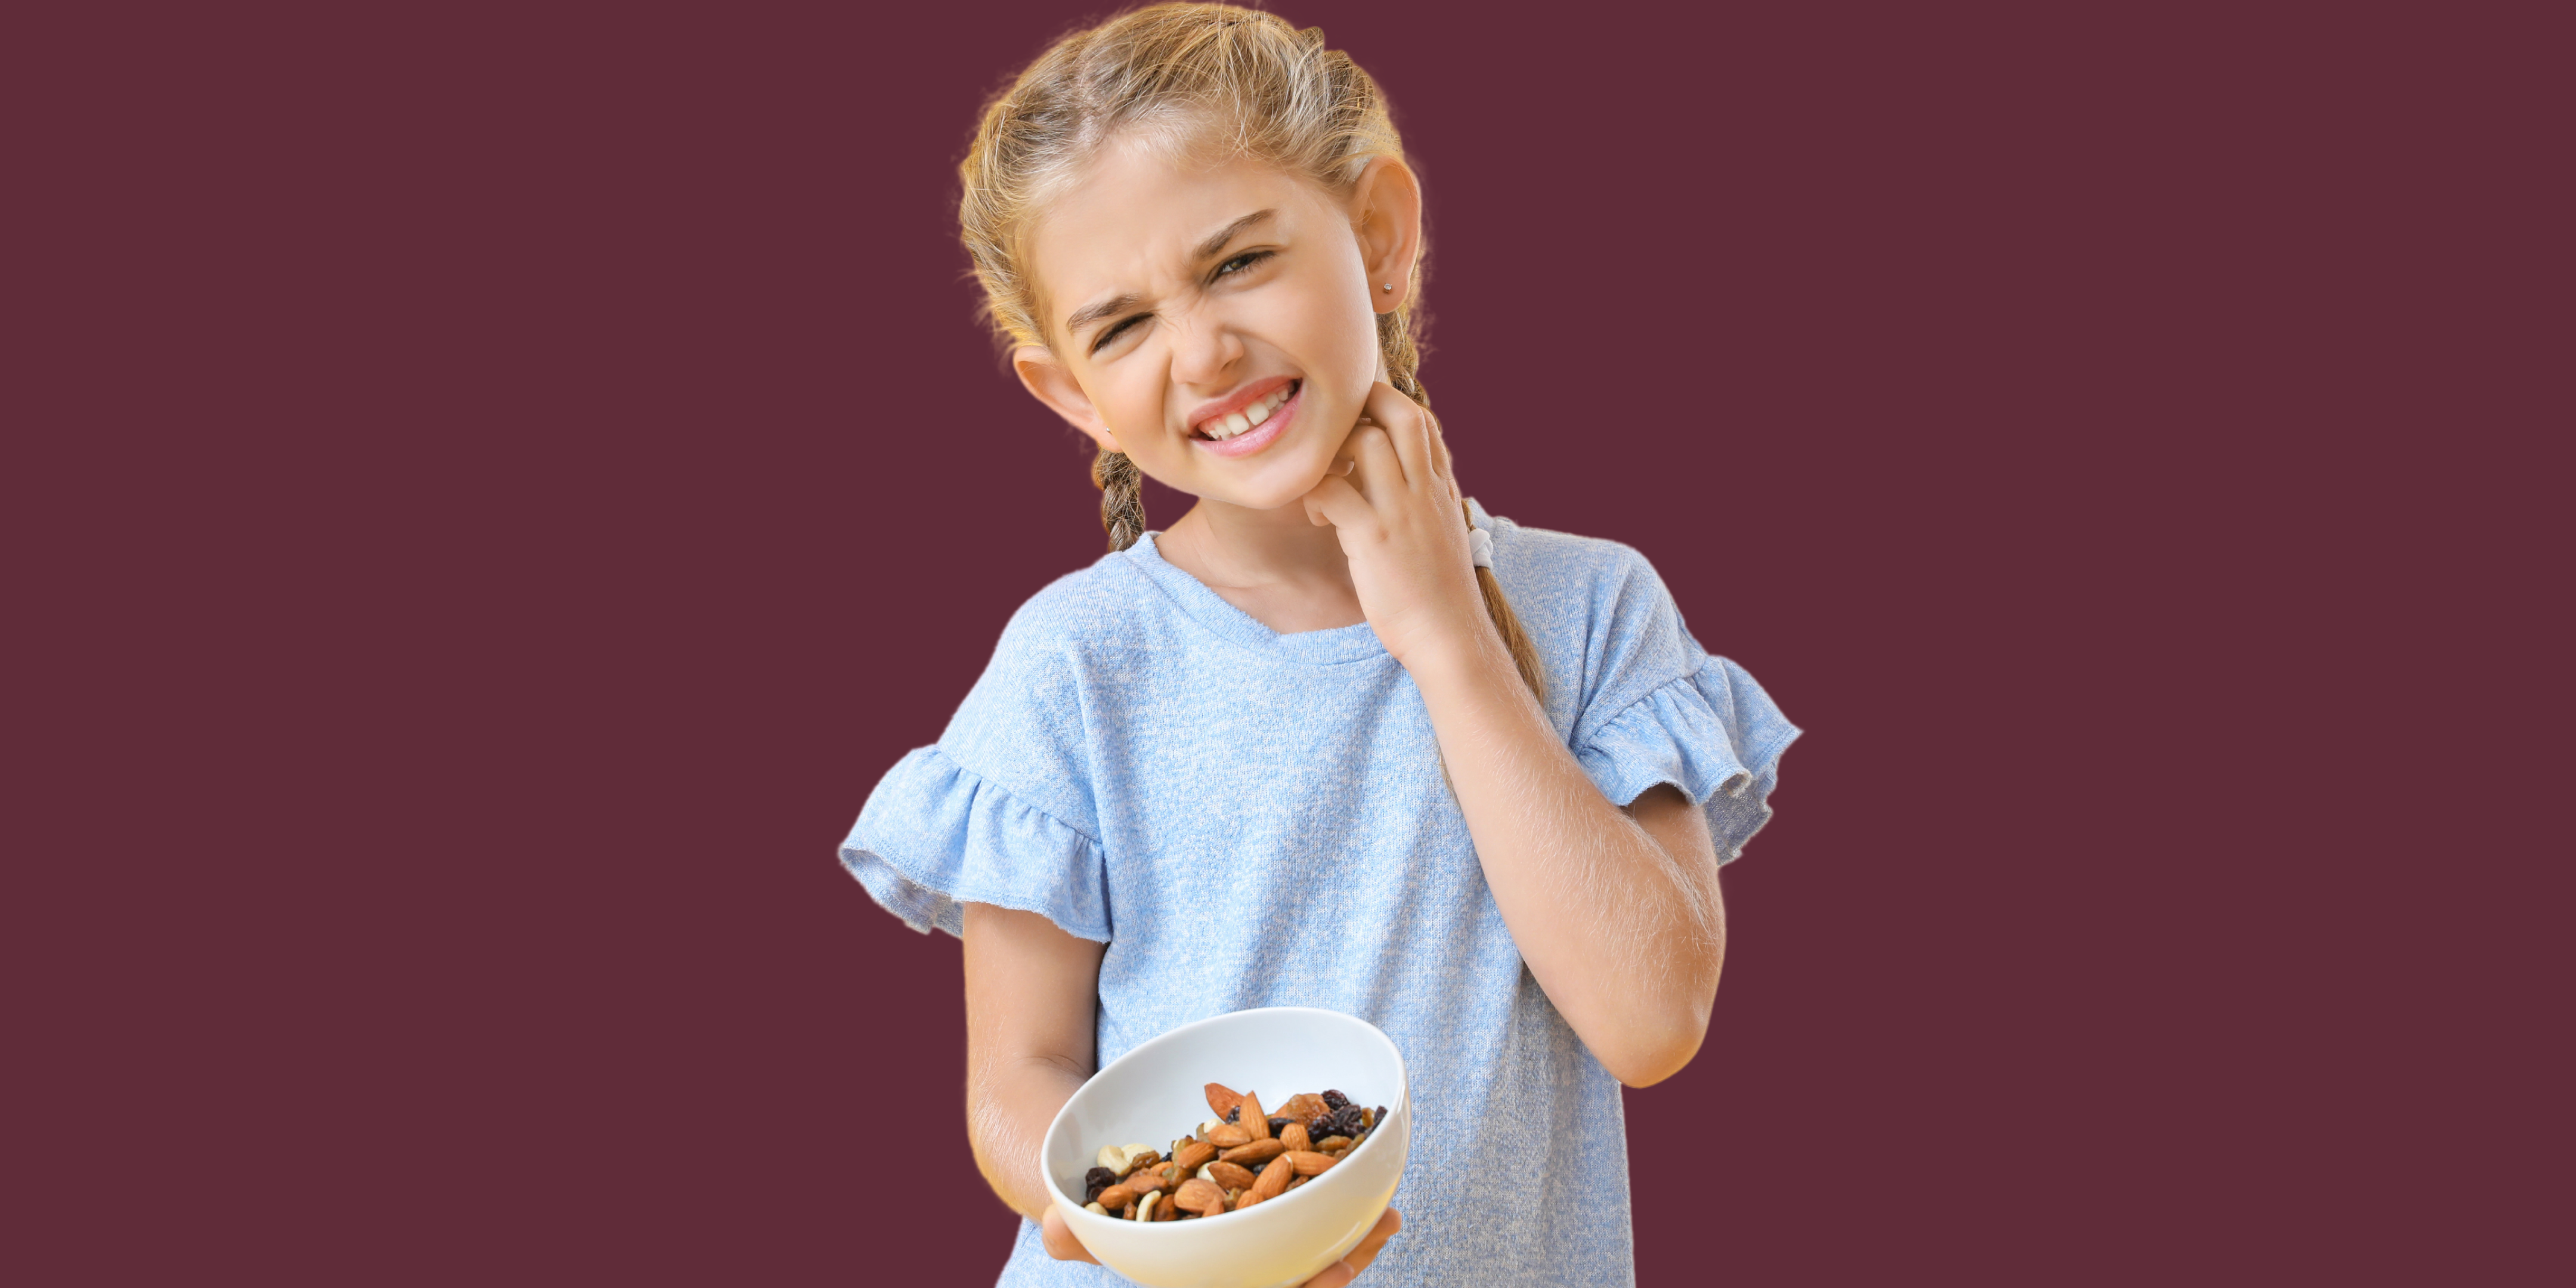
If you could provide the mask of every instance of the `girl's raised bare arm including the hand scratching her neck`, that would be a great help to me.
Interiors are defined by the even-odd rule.
[[[1726,958],[1705,814],[1669,786],[1613,806],[1556,737],[1484,613],[1430,412],[1378,384],[1345,456],[1306,513],[1334,526],[1368,623],[1422,690],[1512,943],[1613,1077],[1672,1077]]]

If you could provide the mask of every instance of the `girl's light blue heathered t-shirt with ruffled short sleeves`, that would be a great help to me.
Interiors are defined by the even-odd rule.
[[[1615,804],[1677,786],[1736,858],[1798,729],[1633,549],[1473,515],[1584,773]],[[976,902],[1105,943],[1103,1064],[1244,1007],[1383,1028],[1417,1118],[1404,1234],[1363,1283],[1636,1283],[1618,1082],[1520,963],[1422,693],[1368,623],[1278,634],[1149,533],[1010,618],[840,858],[914,930],[956,935]],[[999,1283],[1123,1280],[1023,1221]]]

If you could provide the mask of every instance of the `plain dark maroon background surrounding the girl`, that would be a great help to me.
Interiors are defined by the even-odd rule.
[[[2545,1278],[2550,41],[1777,8],[1283,8],[1468,489],[1808,729],[1641,1280]],[[948,227],[1097,10],[216,10],[8,39],[26,1283],[989,1280],[832,848],[1097,554]]]

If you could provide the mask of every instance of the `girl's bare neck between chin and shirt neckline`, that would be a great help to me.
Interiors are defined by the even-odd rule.
[[[1311,523],[1303,505],[1244,510],[1200,500],[1154,549],[1273,631],[1329,631],[1368,621],[1350,582],[1342,538]]]

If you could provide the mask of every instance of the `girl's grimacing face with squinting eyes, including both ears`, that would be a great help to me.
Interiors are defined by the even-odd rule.
[[[1048,348],[1012,366],[1180,492],[1296,505],[1381,376],[1373,314],[1399,304],[1419,237],[1419,188],[1394,160],[1342,201],[1260,162],[1108,147],[1036,227]]]

